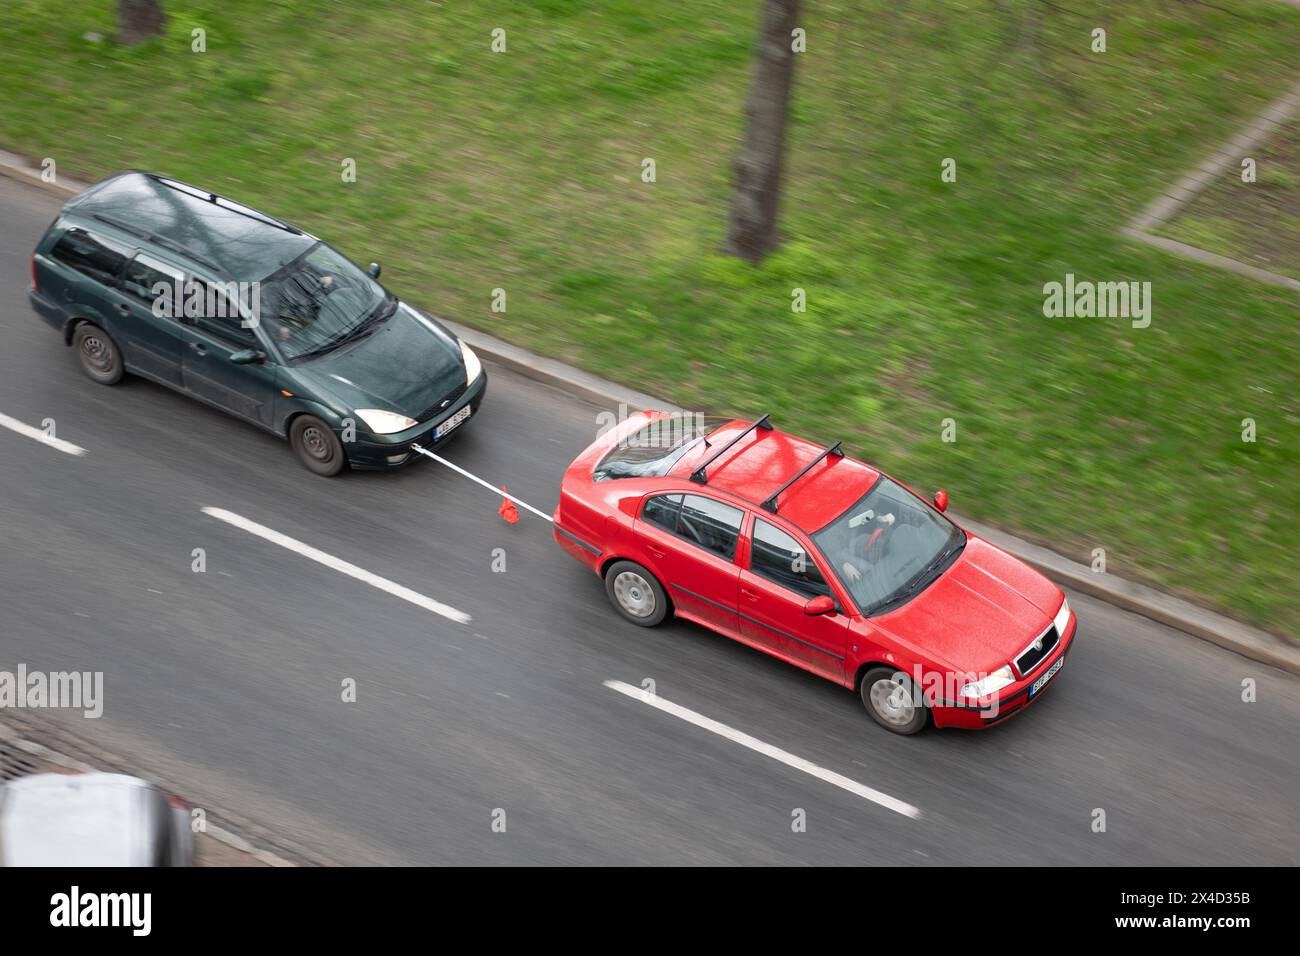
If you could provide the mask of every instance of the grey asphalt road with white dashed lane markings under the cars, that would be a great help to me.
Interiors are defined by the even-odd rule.
[[[181,395],[92,384],[26,302],[57,206],[0,179],[0,414],[53,419],[87,450],[0,428],[0,669],[103,671],[100,719],[42,719],[214,814],[335,862],[1300,862],[1294,678],[1071,594],[1082,637],[1032,710],[987,732],[896,737],[850,692],[711,632],[624,624],[543,520],[506,524],[497,498],[436,463],[318,479],[272,436]],[[400,293],[402,276],[387,280]],[[446,454],[550,511],[599,408],[489,371],[481,415]],[[356,702],[342,700],[348,678]],[[647,678],[660,698],[920,817],[603,684]],[[1245,678],[1256,702],[1242,701]]]

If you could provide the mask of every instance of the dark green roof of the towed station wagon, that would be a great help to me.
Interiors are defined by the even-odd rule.
[[[317,239],[273,216],[153,173],[129,172],[91,186],[64,215],[107,224],[217,273],[254,282],[292,261]]]

